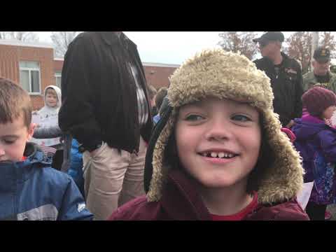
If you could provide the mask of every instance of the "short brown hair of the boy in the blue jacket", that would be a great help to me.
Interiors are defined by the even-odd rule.
[[[31,123],[31,100],[20,85],[0,77],[0,123],[13,123],[23,116],[25,126]]]

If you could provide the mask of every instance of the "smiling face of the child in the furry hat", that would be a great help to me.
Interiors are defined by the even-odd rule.
[[[181,107],[175,133],[181,164],[204,187],[246,185],[261,145],[256,109],[227,99],[204,99]]]

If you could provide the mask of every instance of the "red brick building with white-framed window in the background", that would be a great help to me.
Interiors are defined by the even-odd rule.
[[[169,85],[169,76],[179,65],[146,63],[148,85],[157,90]],[[31,95],[34,110],[43,106],[41,94],[48,85],[60,86],[63,59],[54,58],[52,45],[0,40],[0,76],[20,83]]]

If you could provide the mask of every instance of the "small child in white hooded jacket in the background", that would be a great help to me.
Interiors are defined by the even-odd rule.
[[[63,144],[60,142],[58,127],[58,112],[62,104],[61,90],[55,85],[48,85],[43,94],[45,105],[37,112],[39,123],[36,125],[34,137],[39,139],[38,144],[56,149],[52,167],[59,170],[63,160]]]

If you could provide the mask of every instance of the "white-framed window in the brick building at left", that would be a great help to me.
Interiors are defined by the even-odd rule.
[[[40,64],[20,62],[20,84],[29,94],[41,94]]]

